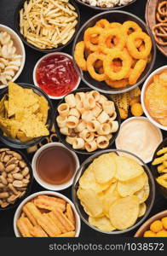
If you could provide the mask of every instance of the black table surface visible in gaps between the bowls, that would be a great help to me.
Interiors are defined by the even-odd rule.
[[[14,29],[14,11],[18,2],[20,2],[20,0],[0,0],[0,24],[9,26]],[[134,15],[139,16],[142,20],[145,20],[144,16],[145,16],[146,3],[147,3],[147,0],[137,0],[135,3],[131,4],[129,7],[124,8],[122,10],[128,11]],[[79,4],[78,4],[78,8],[81,13],[81,25],[83,25],[85,21],[89,20],[89,18],[91,18],[92,16],[98,13],[94,9],[89,9]],[[26,64],[17,82],[33,84],[33,80],[32,80],[33,67],[35,66],[37,60],[43,56],[43,54],[27,47],[26,45],[25,47],[26,47]],[[72,44],[70,44],[65,49],[63,49],[63,51],[65,51],[66,53],[72,54]],[[162,67],[166,63],[167,63],[167,59],[165,58],[165,56],[162,55],[160,52],[157,52],[157,59],[153,69]],[[56,108],[57,102],[55,101],[54,104]],[[166,137],[166,134],[164,134],[164,137]],[[149,143],[149,140],[151,139],[152,139],[151,137],[148,138],[148,143]],[[83,160],[86,159],[86,155],[78,155],[78,156],[79,156],[80,163],[82,163]],[[30,157],[30,160],[31,160],[31,157]],[[37,191],[43,191],[43,190],[44,189],[40,185],[38,185],[36,181],[33,182],[32,193]],[[71,187],[60,191],[60,193],[62,193],[63,195],[66,195],[70,199],[72,198]],[[149,214],[149,217],[153,216],[157,212],[161,212],[165,210],[166,208],[167,208],[167,201],[164,199],[162,195],[158,193],[158,190],[156,190],[155,202],[153,205],[153,209]],[[0,237],[14,236],[14,229],[13,229],[14,212],[15,212],[15,209],[0,212]],[[135,231],[136,230],[133,230],[122,236],[134,236]],[[115,235],[114,236],[103,235],[100,232],[91,230],[89,226],[87,226],[82,222],[80,236],[94,237],[94,238],[95,237],[102,238],[104,236],[110,236],[112,239]]]

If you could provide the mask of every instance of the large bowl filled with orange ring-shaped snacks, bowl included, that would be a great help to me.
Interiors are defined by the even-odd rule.
[[[147,79],[153,69],[156,44],[140,18],[124,11],[107,11],[80,28],[72,55],[85,84],[103,93],[118,94]]]

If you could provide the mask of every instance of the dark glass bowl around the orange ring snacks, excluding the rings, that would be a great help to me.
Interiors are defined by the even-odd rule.
[[[147,32],[147,34],[151,37],[152,39],[152,43],[153,43],[153,48],[152,48],[152,61],[150,61],[147,64],[147,67],[145,68],[144,72],[141,74],[140,79],[138,80],[138,82],[134,85],[129,85],[123,88],[111,88],[110,86],[108,86],[104,81],[99,82],[96,81],[95,79],[92,79],[89,75],[88,72],[83,72],[77,65],[75,59],[74,59],[74,49],[76,44],[78,44],[79,41],[83,41],[83,34],[85,32],[85,30],[90,27],[90,26],[95,26],[95,23],[98,20],[101,19],[107,19],[110,22],[119,22],[119,23],[124,23],[124,21],[127,20],[132,20],[135,21],[137,24],[139,24],[139,26],[141,26],[142,30],[144,32]],[[107,11],[104,13],[101,13],[99,15],[95,15],[93,16],[91,19],[89,19],[78,31],[78,34],[76,36],[76,38],[74,39],[73,42],[73,46],[72,46],[72,56],[74,59],[74,65],[76,67],[76,70],[78,72],[78,74],[80,75],[81,79],[83,80],[83,82],[85,84],[87,84],[89,87],[91,87],[94,90],[99,90],[102,93],[107,93],[107,94],[117,94],[117,93],[123,93],[129,90],[133,90],[135,87],[139,86],[141,83],[143,83],[145,81],[145,79],[147,79],[147,76],[149,75],[149,73],[151,73],[152,69],[153,69],[153,65],[155,62],[155,58],[156,58],[156,44],[155,44],[155,40],[153,38],[153,34],[150,31],[150,29],[148,28],[148,26],[137,16],[132,15],[130,13],[124,12],[124,11]]]

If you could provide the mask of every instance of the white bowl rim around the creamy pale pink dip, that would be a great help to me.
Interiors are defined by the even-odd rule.
[[[143,119],[143,120],[147,120],[147,122],[149,122],[151,125],[153,125],[153,123],[152,122],[150,122],[150,120],[149,119],[147,119],[146,117],[144,117],[144,116],[140,116],[140,117],[131,117],[131,118],[129,118],[129,119],[125,119],[124,120],[124,122],[121,124],[121,126],[120,126],[120,131],[121,131],[121,127],[123,127],[126,123],[129,123],[131,120],[141,120],[141,119]],[[156,127],[155,125],[154,125],[154,127],[155,127],[155,129],[158,131],[158,135],[159,135],[159,137],[160,137],[160,142],[158,143],[158,145],[160,144],[160,143],[162,143],[162,141],[163,141],[163,135],[162,135],[162,132],[160,131],[160,129],[158,128],[158,127]],[[120,132],[119,131],[119,132]],[[119,135],[118,135],[119,136]],[[150,139],[151,139],[151,137],[150,137]],[[149,138],[148,138],[148,140],[149,140]],[[149,141],[148,141],[148,143],[149,143]],[[126,149],[124,149],[124,148],[120,148],[120,147],[118,147],[118,137],[116,138],[116,141],[115,141],[115,145],[116,145],[116,148],[117,149],[123,149],[123,150],[126,150]],[[157,147],[158,147],[158,145],[157,145]],[[156,148],[157,148],[156,147]],[[156,150],[156,148],[155,148],[155,150]],[[133,154],[136,154],[135,152],[130,152],[130,153],[133,153]],[[154,154],[154,152],[153,152],[153,154]],[[136,154],[137,155],[137,154]],[[137,155],[138,157],[140,157],[141,158],[141,156],[139,156],[139,155]],[[142,160],[142,159],[141,159]],[[148,158],[147,160],[143,160],[146,164],[147,163],[149,163],[149,162],[151,162],[153,160],[153,155],[152,155],[152,157],[150,157],[150,158]]]

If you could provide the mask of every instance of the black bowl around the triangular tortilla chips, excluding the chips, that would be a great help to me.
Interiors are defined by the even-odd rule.
[[[25,84],[25,83],[18,83],[18,84],[20,84],[20,86],[23,88],[32,89],[34,91],[34,93],[36,93],[39,96],[43,96],[46,99],[46,101],[49,104],[48,119],[47,119],[46,125],[48,127],[48,130],[51,131],[52,126],[54,124],[55,111],[54,111],[52,102],[49,99],[49,96],[47,96],[43,90],[41,90],[40,88],[38,88],[37,86],[34,86],[32,84]],[[5,94],[8,94],[8,87],[6,87],[4,90],[0,91],[0,101]],[[45,136],[37,137],[37,138],[34,138],[27,142],[20,142],[20,140],[18,140],[18,139],[12,139],[10,137],[3,136],[3,131],[0,129],[0,140],[3,143],[5,143],[6,145],[8,145],[9,147],[13,147],[13,148],[30,148],[30,147],[36,145],[37,143],[41,143],[44,138],[45,138]]]

